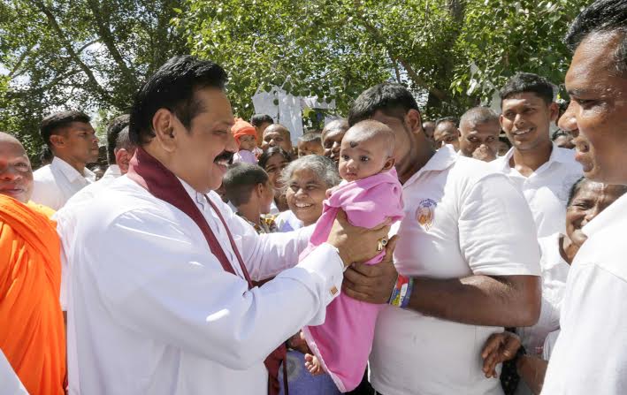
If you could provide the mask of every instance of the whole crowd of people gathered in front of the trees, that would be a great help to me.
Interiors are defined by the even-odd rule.
[[[293,146],[179,56],[100,179],[81,111],[36,171],[0,133],[0,394],[626,393],[627,2],[566,42],[568,106],[516,72],[427,121],[384,82]]]

